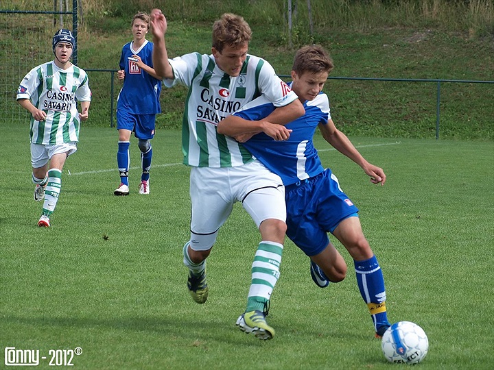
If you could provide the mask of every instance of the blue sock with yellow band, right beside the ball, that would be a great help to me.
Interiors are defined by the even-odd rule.
[[[387,328],[390,325],[386,314],[386,289],[381,267],[375,256],[368,260],[353,262],[360,294],[371,312],[375,331],[378,332],[380,328]]]

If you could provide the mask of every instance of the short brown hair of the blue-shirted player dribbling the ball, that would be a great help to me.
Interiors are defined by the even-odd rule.
[[[330,73],[333,68],[333,60],[320,45],[306,45],[298,49],[292,66],[297,75],[303,75],[304,72]]]

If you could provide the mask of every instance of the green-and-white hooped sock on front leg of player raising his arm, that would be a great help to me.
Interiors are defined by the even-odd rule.
[[[274,286],[279,279],[279,266],[283,245],[272,241],[261,241],[252,263],[252,283],[248,293],[246,312],[264,309]]]

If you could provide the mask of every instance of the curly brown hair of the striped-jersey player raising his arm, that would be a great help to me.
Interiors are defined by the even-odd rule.
[[[213,24],[213,47],[220,53],[226,45],[245,45],[250,38],[252,31],[242,16],[225,13]]]

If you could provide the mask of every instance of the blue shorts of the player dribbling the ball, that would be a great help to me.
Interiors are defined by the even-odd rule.
[[[286,234],[307,256],[320,254],[329,243],[327,233],[358,212],[330,169],[285,186],[285,201]]]

